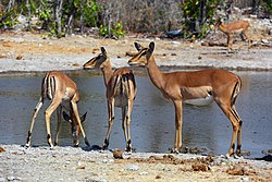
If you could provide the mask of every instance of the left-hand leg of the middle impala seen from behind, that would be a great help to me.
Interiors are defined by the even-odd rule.
[[[107,149],[109,146],[109,139],[110,139],[110,134],[111,134],[111,129],[114,120],[114,98],[108,99],[108,113],[109,113],[109,125],[108,125],[108,131],[106,134],[104,143],[103,143],[103,149]]]

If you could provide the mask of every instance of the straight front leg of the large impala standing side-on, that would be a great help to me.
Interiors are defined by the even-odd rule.
[[[182,126],[183,126],[183,102],[174,101],[175,106],[175,144],[172,151],[178,153],[182,149]]]

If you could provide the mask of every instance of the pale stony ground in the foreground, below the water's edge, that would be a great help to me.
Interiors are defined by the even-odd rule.
[[[0,181],[270,181],[272,163],[197,155],[2,145]]]

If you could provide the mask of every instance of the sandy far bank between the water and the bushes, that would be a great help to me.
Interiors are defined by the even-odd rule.
[[[134,41],[148,46],[156,43],[154,56],[159,65],[181,69],[224,68],[230,70],[272,71],[272,49],[256,47],[227,53],[226,47],[205,47],[199,41],[143,38],[127,36],[120,40],[91,36],[49,38],[40,34],[3,33],[0,35],[0,72],[81,70],[100,52],[103,46],[114,68],[127,66],[127,51],[135,51]],[[260,40],[261,41],[261,40]],[[236,45],[237,47],[237,45]]]

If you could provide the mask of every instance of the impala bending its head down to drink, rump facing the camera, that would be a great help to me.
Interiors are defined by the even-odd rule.
[[[72,126],[72,134],[74,139],[74,146],[79,145],[78,136],[81,133],[85,139],[85,144],[89,146],[88,139],[85,135],[85,132],[82,126],[82,122],[85,120],[86,113],[79,118],[77,110],[77,102],[79,100],[79,95],[76,84],[64,73],[59,71],[47,72],[44,76],[41,83],[41,93],[39,101],[34,110],[30,129],[28,131],[28,136],[26,139],[26,147],[30,146],[30,138],[33,134],[33,128],[35,119],[44,105],[45,99],[48,98],[51,101],[51,105],[47,108],[46,114],[46,126],[47,126],[47,142],[50,147],[52,145],[51,132],[50,132],[50,117],[54,110],[57,110],[57,133],[54,144],[58,145],[59,142],[59,130],[61,124],[61,112],[62,108],[70,111],[70,116],[63,112],[65,120],[70,121]]]

